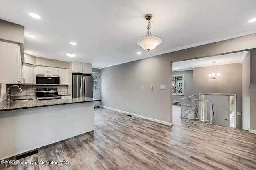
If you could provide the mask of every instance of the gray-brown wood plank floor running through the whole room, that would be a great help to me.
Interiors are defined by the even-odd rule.
[[[0,169],[256,169],[256,134],[180,119],[177,105],[173,113],[170,127],[99,107],[95,131],[44,146],[38,154],[19,160],[58,164],[1,164]],[[62,160],[69,163],[60,164]]]

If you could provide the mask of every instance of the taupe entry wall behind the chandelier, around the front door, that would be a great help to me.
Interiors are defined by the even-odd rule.
[[[216,65],[215,73],[220,73],[218,79],[210,79],[213,67],[198,67],[193,69],[193,92],[199,98],[199,93],[236,94],[236,112],[242,112],[242,64]],[[236,128],[242,128],[242,118],[236,115]]]

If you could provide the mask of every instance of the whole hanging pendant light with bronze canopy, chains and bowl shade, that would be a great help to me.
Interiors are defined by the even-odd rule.
[[[150,28],[151,28],[151,22],[149,20],[151,20],[153,17],[152,14],[147,14],[145,16],[146,20],[148,20],[148,31],[147,31],[147,34],[146,34],[146,37],[143,37],[143,38],[140,38],[138,41],[137,41],[137,44],[139,46],[141,46],[143,49],[145,50],[152,50],[154,49],[156,46],[160,45],[162,43],[162,40],[158,37],[153,37],[151,35],[151,31],[150,31]]]

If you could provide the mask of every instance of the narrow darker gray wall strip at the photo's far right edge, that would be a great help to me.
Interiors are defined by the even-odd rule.
[[[256,133],[256,50],[250,51],[250,130]]]

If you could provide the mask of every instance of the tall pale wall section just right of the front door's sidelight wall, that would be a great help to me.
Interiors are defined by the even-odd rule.
[[[242,129],[250,128],[250,51],[242,63]]]

